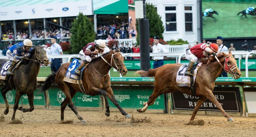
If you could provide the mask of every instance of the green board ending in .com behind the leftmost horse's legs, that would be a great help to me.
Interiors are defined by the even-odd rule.
[[[23,105],[29,105],[27,95],[22,95],[20,100]],[[34,105],[45,106],[45,96],[43,95],[43,92],[39,92],[38,89],[34,91]]]

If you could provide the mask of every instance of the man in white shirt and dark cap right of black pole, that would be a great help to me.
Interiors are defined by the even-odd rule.
[[[165,47],[159,43],[159,37],[154,36],[154,46],[153,46],[153,53],[166,53],[167,50]],[[153,69],[163,66],[163,58],[164,56],[155,56],[153,57]]]

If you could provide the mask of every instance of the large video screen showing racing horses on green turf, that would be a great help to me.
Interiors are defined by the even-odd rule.
[[[256,37],[256,0],[202,0],[203,39]]]

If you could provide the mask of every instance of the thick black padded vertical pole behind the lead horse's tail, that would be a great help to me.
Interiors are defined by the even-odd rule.
[[[146,19],[146,2],[143,0],[144,18],[139,21],[139,43],[140,43],[140,61],[141,70],[150,69],[149,56],[149,20]]]

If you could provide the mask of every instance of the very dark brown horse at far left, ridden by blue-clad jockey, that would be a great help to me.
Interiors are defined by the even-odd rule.
[[[21,95],[27,94],[29,100],[29,109],[19,107],[22,112],[31,112],[34,110],[34,91],[37,88],[37,75],[40,69],[41,63],[45,66],[49,65],[49,59],[46,57],[46,51],[43,50],[42,46],[33,46],[35,48],[34,53],[32,53],[30,60],[22,60],[21,64],[17,69],[13,71],[13,76],[11,76],[9,84],[8,80],[3,80],[5,86],[1,88],[1,93],[3,99],[5,100],[6,109],[4,114],[7,115],[9,112],[9,103],[6,99],[6,93],[9,90],[15,89],[15,102],[13,106],[13,116],[12,120],[15,119],[15,112],[18,109],[19,99]],[[0,59],[0,66],[3,65],[9,59]]]

